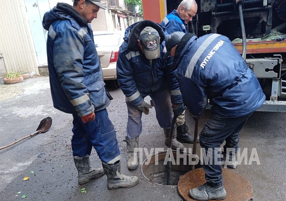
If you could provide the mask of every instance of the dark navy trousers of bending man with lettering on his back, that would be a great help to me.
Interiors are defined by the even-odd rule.
[[[208,161],[202,159],[203,168],[206,172],[205,179],[208,185],[215,188],[223,186],[221,164],[218,164],[218,162],[215,163],[215,160],[217,160],[215,154],[217,156],[219,153],[215,152],[219,150],[224,141],[226,141],[226,144],[223,147],[225,151],[227,148],[231,148],[237,152],[239,132],[251,114],[237,118],[222,118],[217,114],[212,114],[206,122],[204,128],[200,132],[200,146],[205,149],[206,156],[212,154],[212,157],[210,157]],[[209,148],[211,148],[210,151],[212,151],[212,153],[208,152]],[[218,158],[218,161],[220,162],[221,158]]]

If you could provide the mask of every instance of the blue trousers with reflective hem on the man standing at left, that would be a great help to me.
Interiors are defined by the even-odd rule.
[[[73,114],[73,117],[73,156],[90,155],[93,146],[104,163],[113,164],[120,160],[116,133],[106,109],[95,112],[95,120],[85,124],[77,114]]]

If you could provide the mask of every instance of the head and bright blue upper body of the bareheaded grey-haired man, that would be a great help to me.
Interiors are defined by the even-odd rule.
[[[183,0],[177,10],[173,10],[164,17],[161,26],[165,27],[166,37],[175,32],[182,31],[188,33],[187,24],[196,15],[198,5],[195,0]],[[167,32],[167,34],[166,34]]]

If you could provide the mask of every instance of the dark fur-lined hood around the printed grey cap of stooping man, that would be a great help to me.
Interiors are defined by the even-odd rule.
[[[125,30],[124,41],[126,41],[128,43],[127,49],[129,49],[131,51],[138,51],[139,50],[137,40],[139,39],[139,35],[140,35],[141,31],[145,27],[153,27],[154,29],[156,29],[159,33],[159,36],[160,36],[160,44],[164,41],[165,35],[164,35],[164,31],[163,31],[161,25],[159,25],[158,23],[152,22],[150,20],[143,20],[143,21],[137,22],[137,23],[129,26]]]

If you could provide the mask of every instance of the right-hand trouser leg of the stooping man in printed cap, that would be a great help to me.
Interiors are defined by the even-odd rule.
[[[150,95],[154,108],[156,110],[156,118],[160,127],[171,128],[171,121],[174,116],[170,90],[164,90]]]

